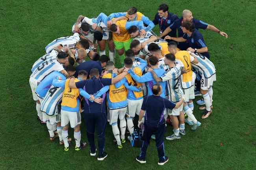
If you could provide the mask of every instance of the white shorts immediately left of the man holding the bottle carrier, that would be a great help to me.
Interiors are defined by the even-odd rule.
[[[135,117],[135,113],[139,115],[139,112],[141,112],[141,106],[143,103],[143,98],[139,100],[129,100],[128,101],[128,109],[127,109],[127,115],[129,117]]]

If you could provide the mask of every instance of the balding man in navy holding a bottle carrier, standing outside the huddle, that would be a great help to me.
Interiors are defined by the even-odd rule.
[[[173,102],[160,97],[162,87],[160,84],[155,84],[152,87],[153,95],[145,97],[141,106],[141,112],[139,113],[138,126],[142,123],[142,118],[145,113],[145,122],[144,122],[144,133],[143,133],[143,145],[141,148],[141,153],[136,157],[136,160],[139,163],[146,163],[146,152],[148,148],[151,135],[156,135],[156,147],[158,150],[158,165],[164,165],[169,159],[165,156],[164,152],[164,132],[165,132],[165,119],[163,117],[163,112],[165,108],[173,109],[179,108],[184,98],[179,102],[174,104]],[[146,111],[146,112],[145,112]]]

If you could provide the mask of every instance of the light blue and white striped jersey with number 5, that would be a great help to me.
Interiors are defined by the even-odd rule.
[[[33,69],[33,68],[32,68]],[[57,58],[48,58],[33,71],[30,77],[33,77],[35,80],[41,82],[48,74],[53,71],[62,71],[64,68],[60,64]]]

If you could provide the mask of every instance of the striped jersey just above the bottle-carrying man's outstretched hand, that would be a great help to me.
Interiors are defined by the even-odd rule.
[[[182,98],[182,88],[180,86],[181,68],[180,65],[176,65],[169,68],[163,76],[160,78],[163,82],[167,82],[167,89],[169,91],[169,100],[172,102],[178,102]]]

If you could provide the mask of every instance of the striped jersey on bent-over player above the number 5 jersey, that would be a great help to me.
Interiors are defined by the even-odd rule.
[[[48,44],[45,47],[46,53],[50,53],[54,47],[58,45],[62,45],[63,47],[68,47],[68,48],[75,48],[76,43],[80,40],[80,36],[78,33],[74,33],[72,36],[67,36],[67,37],[60,37],[55,40],[53,40],[50,44]]]

